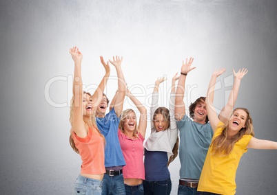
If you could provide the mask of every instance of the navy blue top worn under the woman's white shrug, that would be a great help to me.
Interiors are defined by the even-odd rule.
[[[164,181],[170,178],[170,171],[167,168],[167,152],[145,149],[144,155],[146,181]]]

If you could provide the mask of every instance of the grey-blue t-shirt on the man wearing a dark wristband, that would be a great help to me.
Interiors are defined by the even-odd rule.
[[[214,135],[212,126],[193,122],[187,115],[177,121],[177,126],[180,130],[180,178],[199,179]]]

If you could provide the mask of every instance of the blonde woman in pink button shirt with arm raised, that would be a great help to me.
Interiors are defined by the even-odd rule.
[[[119,143],[126,165],[123,167],[123,177],[126,194],[144,194],[143,180],[143,141],[147,126],[147,110],[130,91],[127,97],[132,100],[141,113],[139,126],[136,123],[136,113],[132,109],[123,111],[119,122]]]

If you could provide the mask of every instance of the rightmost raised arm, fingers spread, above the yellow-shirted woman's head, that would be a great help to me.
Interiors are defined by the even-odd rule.
[[[234,73],[234,84],[232,87],[232,91],[230,92],[227,104],[222,108],[219,113],[219,119],[224,124],[228,122],[229,117],[233,111],[234,105],[236,104],[236,99],[238,98],[238,89],[240,88],[240,80],[245,76],[248,72],[247,69],[238,70],[236,73],[233,69]]]

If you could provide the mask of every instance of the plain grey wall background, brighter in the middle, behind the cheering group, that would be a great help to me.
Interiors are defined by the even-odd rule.
[[[167,106],[171,78],[186,57],[196,67],[187,78],[186,104],[205,95],[214,69],[226,67],[216,92],[220,108],[232,69],[246,67],[236,106],[249,108],[256,137],[277,141],[276,8],[275,0],[1,1],[0,194],[73,192],[81,164],[68,144],[74,45],[83,52],[83,83],[92,91],[104,74],[99,56],[123,56],[128,86],[148,111],[158,76],[168,78],[160,101]],[[110,99],[114,76],[112,67]],[[249,150],[238,168],[237,194],[276,194],[276,161],[277,151]],[[177,158],[170,165],[172,194],[179,168]]]

